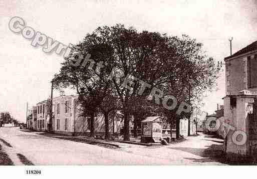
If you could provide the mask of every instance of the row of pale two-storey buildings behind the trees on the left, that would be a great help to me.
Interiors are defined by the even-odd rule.
[[[110,117],[109,132],[120,133],[123,124],[122,115]],[[49,131],[50,125],[50,101],[45,100],[37,104],[37,121],[34,129],[37,131]],[[104,116],[99,115],[94,122],[95,133],[105,132]],[[81,116],[78,96],[64,95],[53,98],[53,124],[54,133],[64,135],[88,135],[90,133],[90,119]]]

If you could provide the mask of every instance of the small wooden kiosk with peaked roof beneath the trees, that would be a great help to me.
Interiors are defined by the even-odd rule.
[[[160,143],[162,138],[162,118],[160,116],[147,117],[141,121],[141,142]]]

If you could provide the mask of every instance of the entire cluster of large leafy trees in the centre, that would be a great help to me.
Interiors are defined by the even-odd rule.
[[[65,58],[53,81],[55,88],[77,90],[82,115],[90,117],[91,136],[95,116],[103,114],[105,137],[109,138],[109,116],[119,111],[127,141],[132,118],[135,136],[140,120],[152,115],[165,116],[171,127],[177,124],[179,132],[179,120],[190,116],[176,113],[179,104],[199,101],[204,91],[215,86],[217,74],[214,60],[202,52],[202,44],[195,39],[138,32],[117,24],[88,33]],[[166,95],[178,101],[173,110],[162,106]],[[174,102],[165,101],[168,106]]]

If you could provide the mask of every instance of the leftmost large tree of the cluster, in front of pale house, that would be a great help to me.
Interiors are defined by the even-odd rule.
[[[112,84],[107,78],[112,71],[112,63],[112,48],[96,31],[87,34],[82,42],[73,47],[73,53],[62,63],[60,73],[53,80],[56,88],[76,89],[82,115],[90,118],[88,125],[92,137],[94,119],[103,100],[112,93]]]

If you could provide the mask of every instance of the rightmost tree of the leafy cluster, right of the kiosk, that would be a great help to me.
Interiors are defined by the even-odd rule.
[[[202,52],[202,44],[187,35],[181,38],[173,37],[173,43],[177,52],[177,59],[183,62],[183,65],[177,68],[177,80],[163,86],[165,94],[173,95],[180,102],[186,102],[190,106],[195,106],[202,100],[202,94],[205,91],[212,90],[216,86],[218,77],[218,68],[213,58],[208,58]],[[170,101],[169,101],[170,102]],[[171,101],[171,104],[173,102]],[[178,102],[179,103],[179,102]],[[161,109],[168,121],[170,127],[176,123],[176,136],[179,138],[180,119],[190,118],[194,108],[191,108],[187,114],[177,114],[177,108],[174,110]],[[190,130],[190,121],[188,120],[188,132]]]

